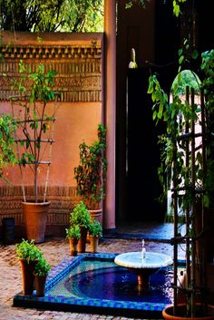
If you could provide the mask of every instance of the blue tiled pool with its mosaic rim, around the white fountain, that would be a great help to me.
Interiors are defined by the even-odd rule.
[[[171,267],[151,275],[150,287],[140,289],[137,276],[116,265],[115,254],[82,254],[67,257],[47,279],[45,296],[18,294],[15,306],[160,318],[172,302]]]

